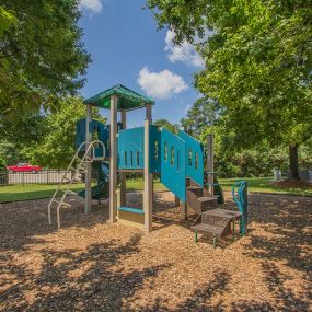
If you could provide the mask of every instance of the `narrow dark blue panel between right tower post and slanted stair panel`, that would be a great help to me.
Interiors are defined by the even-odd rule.
[[[150,126],[150,172],[161,170],[161,131],[158,126]]]

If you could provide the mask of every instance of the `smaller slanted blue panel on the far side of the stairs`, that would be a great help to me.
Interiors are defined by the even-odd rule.
[[[185,141],[186,176],[204,187],[203,145],[184,131],[178,131],[178,137]]]

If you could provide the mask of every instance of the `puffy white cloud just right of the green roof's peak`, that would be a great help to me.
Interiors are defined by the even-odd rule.
[[[147,67],[143,67],[137,81],[145,92],[154,99],[169,99],[173,94],[181,93],[188,88],[183,77],[167,69],[152,72]]]

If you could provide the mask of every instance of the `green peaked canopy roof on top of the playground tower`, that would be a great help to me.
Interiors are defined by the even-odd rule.
[[[84,100],[85,104],[92,104],[101,108],[111,108],[111,95],[118,95],[118,111],[125,109],[136,109],[143,107],[146,104],[154,104],[154,102],[139,93],[122,85],[116,84],[113,88],[109,88],[90,99]]]

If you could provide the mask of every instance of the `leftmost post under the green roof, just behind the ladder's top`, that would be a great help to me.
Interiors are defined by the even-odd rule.
[[[85,118],[85,149],[89,148],[91,141],[92,141],[92,132],[90,129],[90,124],[92,122],[92,105],[88,104],[86,105],[86,118]],[[88,157],[91,158],[92,151],[88,153]],[[85,163],[85,201],[84,201],[84,213],[90,213],[91,212],[91,182],[92,182],[92,163],[86,162]]]

